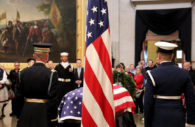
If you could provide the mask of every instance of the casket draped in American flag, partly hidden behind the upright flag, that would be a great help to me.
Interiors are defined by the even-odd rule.
[[[135,104],[129,92],[119,85],[114,85],[113,88],[115,112],[125,111],[134,113]],[[79,88],[67,93],[63,97],[58,108],[60,121],[81,120],[82,93],[83,88]]]

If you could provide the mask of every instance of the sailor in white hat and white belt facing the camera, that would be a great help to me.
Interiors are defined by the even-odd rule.
[[[76,88],[74,84],[74,72],[73,66],[68,62],[68,53],[62,52],[61,63],[56,65],[55,70],[58,73],[58,94],[59,100],[62,100],[63,96]]]

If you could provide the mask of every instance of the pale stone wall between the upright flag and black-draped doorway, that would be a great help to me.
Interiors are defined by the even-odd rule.
[[[130,0],[108,0],[108,8],[115,65],[134,63],[135,8]]]

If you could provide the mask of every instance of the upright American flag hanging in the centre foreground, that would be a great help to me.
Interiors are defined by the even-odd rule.
[[[114,127],[111,43],[105,0],[88,0],[83,127]]]

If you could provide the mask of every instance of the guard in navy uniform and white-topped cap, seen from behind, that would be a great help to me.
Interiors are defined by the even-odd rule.
[[[160,65],[147,72],[144,100],[145,127],[195,125],[195,90],[188,72],[174,65],[176,44],[157,42]],[[186,112],[181,95],[185,94]]]

